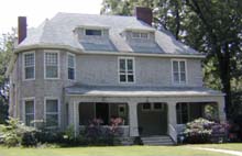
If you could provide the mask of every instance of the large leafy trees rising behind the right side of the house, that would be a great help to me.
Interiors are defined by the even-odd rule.
[[[125,4],[119,4],[120,2]],[[101,13],[130,15],[135,5],[150,7],[154,12],[153,21],[157,29],[170,31],[177,40],[206,54],[205,85],[226,93],[226,112],[229,118],[232,116],[234,100],[231,100],[231,96],[238,97],[238,92],[242,92],[239,82],[242,78],[242,1],[144,2],[144,0],[103,0]],[[242,99],[241,96],[239,97]]]

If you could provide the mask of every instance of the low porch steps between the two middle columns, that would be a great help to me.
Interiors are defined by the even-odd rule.
[[[173,140],[168,135],[141,137],[144,145],[174,145]]]

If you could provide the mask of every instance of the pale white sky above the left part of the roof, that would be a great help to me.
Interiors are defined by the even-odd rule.
[[[99,14],[102,0],[3,0],[0,7],[0,35],[16,27],[18,16],[28,18],[28,27],[36,27],[57,12]]]

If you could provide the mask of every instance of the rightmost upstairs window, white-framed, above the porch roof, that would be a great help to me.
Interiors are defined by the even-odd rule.
[[[186,83],[186,62],[173,60],[173,82]]]

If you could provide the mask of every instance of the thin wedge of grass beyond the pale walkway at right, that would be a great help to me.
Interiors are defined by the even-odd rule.
[[[231,149],[242,152],[242,143],[191,145],[208,148]]]

